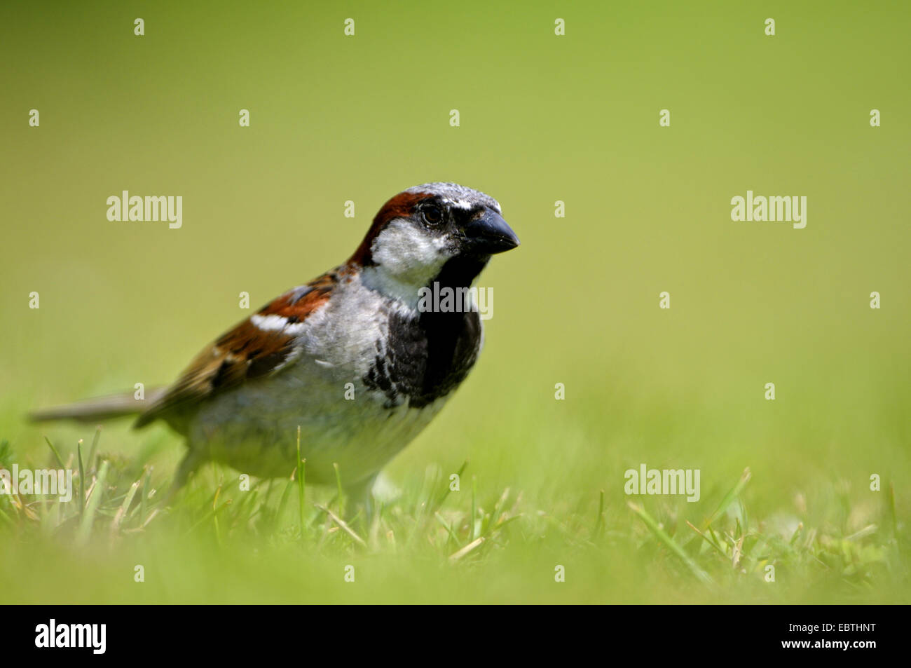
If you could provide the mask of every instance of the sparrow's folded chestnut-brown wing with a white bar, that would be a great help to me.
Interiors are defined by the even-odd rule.
[[[337,281],[335,272],[324,274],[282,294],[223,334],[190,362],[134,426],[175,416],[230,387],[281,370],[298,352],[295,325],[329,299]]]

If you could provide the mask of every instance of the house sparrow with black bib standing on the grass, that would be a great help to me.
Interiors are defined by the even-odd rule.
[[[384,204],[347,262],[223,334],[173,385],[142,402],[112,396],[33,418],[164,420],[189,448],[175,489],[209,460],[262,478],[289,475],[300,426],[308,481],[332,483],[337,463],[349,494],[364,498],[465,380],[483,344],[476,310],[422,310],[419,291],[435,282],[467,288],[491,255],[518,243],[483,192],[409,188]]]

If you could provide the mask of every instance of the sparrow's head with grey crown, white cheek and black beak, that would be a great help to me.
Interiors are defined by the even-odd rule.
[[[425,183],[384,204],[349,262],[377,289],[411,295],[434,281],[470,285],[491,255],[518,243],[492,197],[457,183]]]

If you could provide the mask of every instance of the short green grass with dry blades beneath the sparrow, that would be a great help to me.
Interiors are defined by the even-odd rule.
[[[542,503],[479,489],[466,462],[455,477],[431,465],[381,486],[372,521],[345,521],[341,490],[307,487],[296,470],[241,489],[211,466],[163,505],[168,475],[106,451],[100,433],[85,462],[81,443],[50,440],[31,457],[77,468],[75,502],[0,496],[5,601],[906,600],[911,546],[891,485],[872,504],[844,488],[831,498],[837,485],[808,490],[762,516],[749,511],[749,470],[697,503],[597,489]],[[20,459],[0,446],[0,464]],[[18,577],[23,564],[40,578]]]

